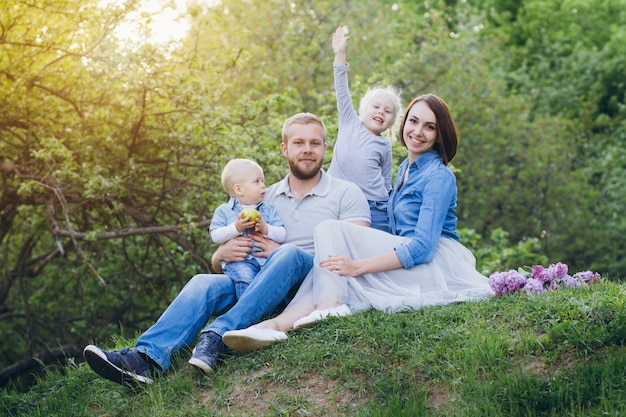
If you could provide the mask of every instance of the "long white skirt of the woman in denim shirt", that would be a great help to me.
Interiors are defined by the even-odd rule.
[[[345,255],[358,260],[394,251],[411,238],[338,220],[315,228],[315,264],[287,309],[314,310],[325,301],[347,304],[350,311],[389,313],[478,300],[493,295],[488,279],[476,270],[476,258],[454,239],[441,238],[432,261],[410,269],[342,277],[319,266],[320,259]]]

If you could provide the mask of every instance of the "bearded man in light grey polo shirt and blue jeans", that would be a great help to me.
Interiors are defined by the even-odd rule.
[[[171,365],[171,355],[189,346],[202,329],[189,363],[211,372],[226,350],[222,335],[244,329],[264,315],[282,310],[313,266],[313,229],[323,220],[336,219],[369,226],[370,211],[362,191],[322,170],[326,128],[310,113],[298,113],[283,125],[281,151],[289,174],[268,188],[265,200],[273,204],[285,223],[285,243],[252,235],[259,256],[269,256],[265,266],[237,300],[226,275],[194,276],[157,322],[143,333],[134,348],[106,351],[85,347],[85,360],[99,375],[119,384],[153,382]],[[239,237],[220,246],[212,264],[243,261],[253,243]],[[271,335],[270,335],[271,337]]]

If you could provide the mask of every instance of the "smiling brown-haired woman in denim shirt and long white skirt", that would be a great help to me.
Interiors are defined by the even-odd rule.
[[[493,295],[456,233],[456,179],[448,163],[458,132],[436,95],[415,98],[401,124],[407,158],[389,198],[392,234],[340,221],[315,229],[315,266],[283,313],[224,334],[239,351],[287,338],[328,316],[377,309],[396,312]]]

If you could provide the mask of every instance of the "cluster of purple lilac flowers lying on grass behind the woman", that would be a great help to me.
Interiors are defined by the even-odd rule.
[[[496,295],[510,292],[545,292],[561,287],[587,287],[600,279],[600,274],[592,271],[577,272],[568,275],[567,265],[559,262],[545,268],[535,265],[531,271],[519,269],[506,272],[494,272],[489,276],[489,285]]]

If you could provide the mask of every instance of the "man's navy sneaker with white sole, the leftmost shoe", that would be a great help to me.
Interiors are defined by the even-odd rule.
[[[83,355],[95,373],[118,384],[136,386],[154,382],[149,359],[136,349],[106,351],[89,345]]]

